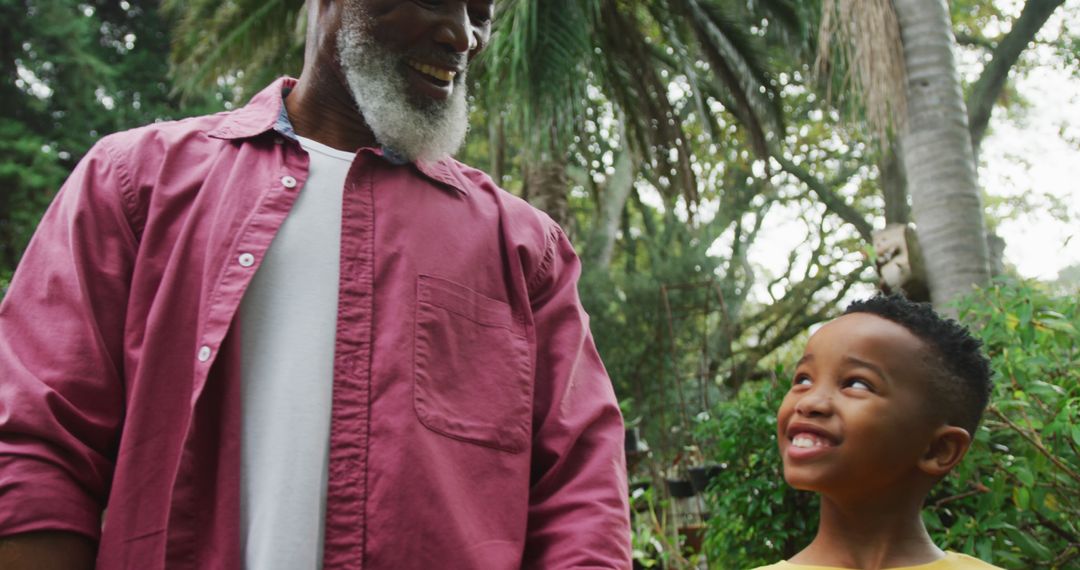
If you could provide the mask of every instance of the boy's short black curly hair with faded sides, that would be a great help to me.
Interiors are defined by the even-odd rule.
[[[942,412],[949,425],[968,430],[972,437],[990,398],[990,361],[983,343],[968,328],[934,312],[930,303],[900,295],[878,295],[855,301],[843,314],[869,313],[896,323],[921,339],[932,351],[931,365],[940,365],[928,379],[927,404]]]

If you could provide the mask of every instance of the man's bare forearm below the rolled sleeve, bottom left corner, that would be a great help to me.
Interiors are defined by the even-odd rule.
[[[4,570],[93,570],[94,541],[71,532],[29,532],[0,539]]]

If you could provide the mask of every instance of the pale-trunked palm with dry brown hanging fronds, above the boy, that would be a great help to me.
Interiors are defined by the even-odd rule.
[[[874,134],[897,133],[930,284],[948,302],[989,281],[983,205],[945,0],[825,0],[819,60],[840,58]],[[837,36],[838,38],[833,38]]]

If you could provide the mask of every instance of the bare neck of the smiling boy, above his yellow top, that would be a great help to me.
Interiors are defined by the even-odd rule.
[[[822,497],[818,535],[791,561],[879,570],[929,564],[945,553],[930,540],[922,496],[839,502]]]

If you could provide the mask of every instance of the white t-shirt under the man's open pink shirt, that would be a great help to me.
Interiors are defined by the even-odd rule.
[[[240,307],[241,540],[252,570],[322,567],[341,199],[355,155],[299,140],[307,184]]]

